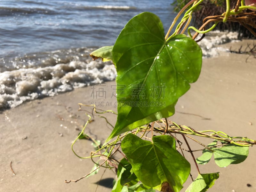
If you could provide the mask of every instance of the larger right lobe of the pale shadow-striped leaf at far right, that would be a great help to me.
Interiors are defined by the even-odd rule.
[[[225,145],[214,149],[214,160],[219,167],[226,167],[229,164],[242,163],[249,154],[249,147],[237,145]]]

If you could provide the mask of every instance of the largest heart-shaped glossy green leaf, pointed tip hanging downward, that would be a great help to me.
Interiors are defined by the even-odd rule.
[[[116,65],[118,116],[108,140],[135,127],[174,114],[174,106],[197,80],[202,51],[194,40],[164,39],[161,20],[144,12],[121,31],[112,50]]]

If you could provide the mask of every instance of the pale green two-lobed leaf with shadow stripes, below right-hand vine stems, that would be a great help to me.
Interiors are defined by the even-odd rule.
[[[214,155],[215,163],[219,167],[226,167],[230,164],[242,163],[249,154],[249,147],[242,147],[235,144],[224,145],[223,147],[213,147],[217,141],[210,143],[212,151],[208,149],[203,150],[203,155],[196,159],[198,164],[206,164],[210,161],[212,154]]]

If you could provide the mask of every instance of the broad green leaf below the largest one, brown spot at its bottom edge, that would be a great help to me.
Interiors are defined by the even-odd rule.
[[[129,133],[121,147],[142,183],[159,191],[163,184],[172,191],[180,191],[190,173],[190,164],[176,150],[176,142],[171,136],[155,136],[152,140],[142,140]]]

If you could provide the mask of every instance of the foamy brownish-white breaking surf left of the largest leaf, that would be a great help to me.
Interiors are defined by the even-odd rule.
[[[115,78],[114,65],[101,60],[4,71],[0,75],[0,109]]]

